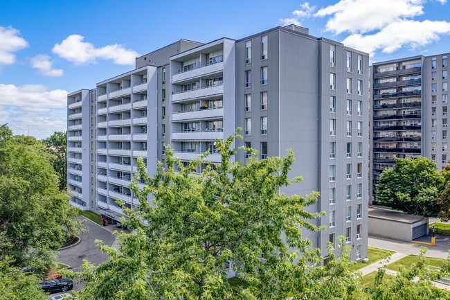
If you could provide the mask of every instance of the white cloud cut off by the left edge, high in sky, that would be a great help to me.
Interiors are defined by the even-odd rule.
[[[14,64],[16,55],[13,53],[28,47],[28,42],[19,37],[19,30],[0,26],[0,64]]]

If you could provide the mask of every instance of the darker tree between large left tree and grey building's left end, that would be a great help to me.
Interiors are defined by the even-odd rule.
[[[50,162],[57,173],[61,191],[66,191],[67,186],[67,132],[55,131],[42,143],[52,154]]]

